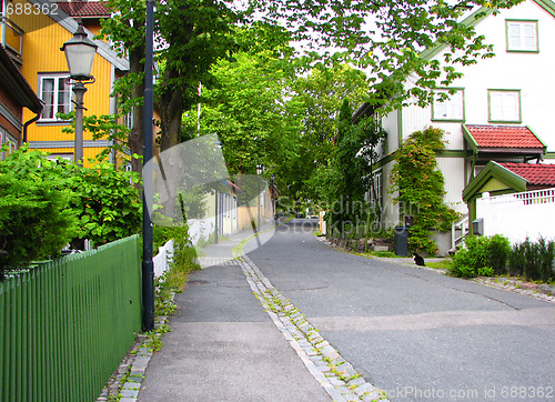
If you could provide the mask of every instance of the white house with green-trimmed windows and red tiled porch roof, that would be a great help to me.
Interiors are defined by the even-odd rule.
[[[411,133],[426,127],[445,131],[445,150],[436,153],[445,177],[444,201],[463,215],[468,214],[463,191],[487,162],[555,163],[555,82],[551,80],[555,66],[555,47],[551,43],[555,38],[555,3],[527,0],[496,16],[485,11],[487,17],[475,20],[471,14],[466,22],[494,46],[495,57],[460,67],[463,78],[450,88],[437,89],[448,100],[437,97],[430,107],[411,105],[382,118],[387,138],[373,173],[386,228],[404,223],[398,207],[392,202],[396,194],[387,192],[394,153]],[[444,51],[437,47],[422,57],[443,60]],[[365,104],[355,118],[372,112]]]

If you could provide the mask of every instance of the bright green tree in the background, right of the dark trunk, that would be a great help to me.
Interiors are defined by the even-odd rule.
[[[201,131],[219,135],[232,174],[254,174],[259,163],[276,173],[296,149],[299,112],[286,99],[293,70],[272,53],[220,60],[211,71],[218,84],[203,90]],[[193,108],[185,119],[189,131],[196,130],[196,119]]]

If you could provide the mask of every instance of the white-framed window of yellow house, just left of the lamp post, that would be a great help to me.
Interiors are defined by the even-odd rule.
[[[39,92],[44,102],[41,121],[61,121],[57,113],[69,113],[73,110],[72,92],[67,82],[67,74],[40,74]]]

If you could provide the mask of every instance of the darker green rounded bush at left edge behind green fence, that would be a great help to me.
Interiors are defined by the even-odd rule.
[[[0,173],[0,280],[10,268],[60,255],[78,232],[70,192]]]

